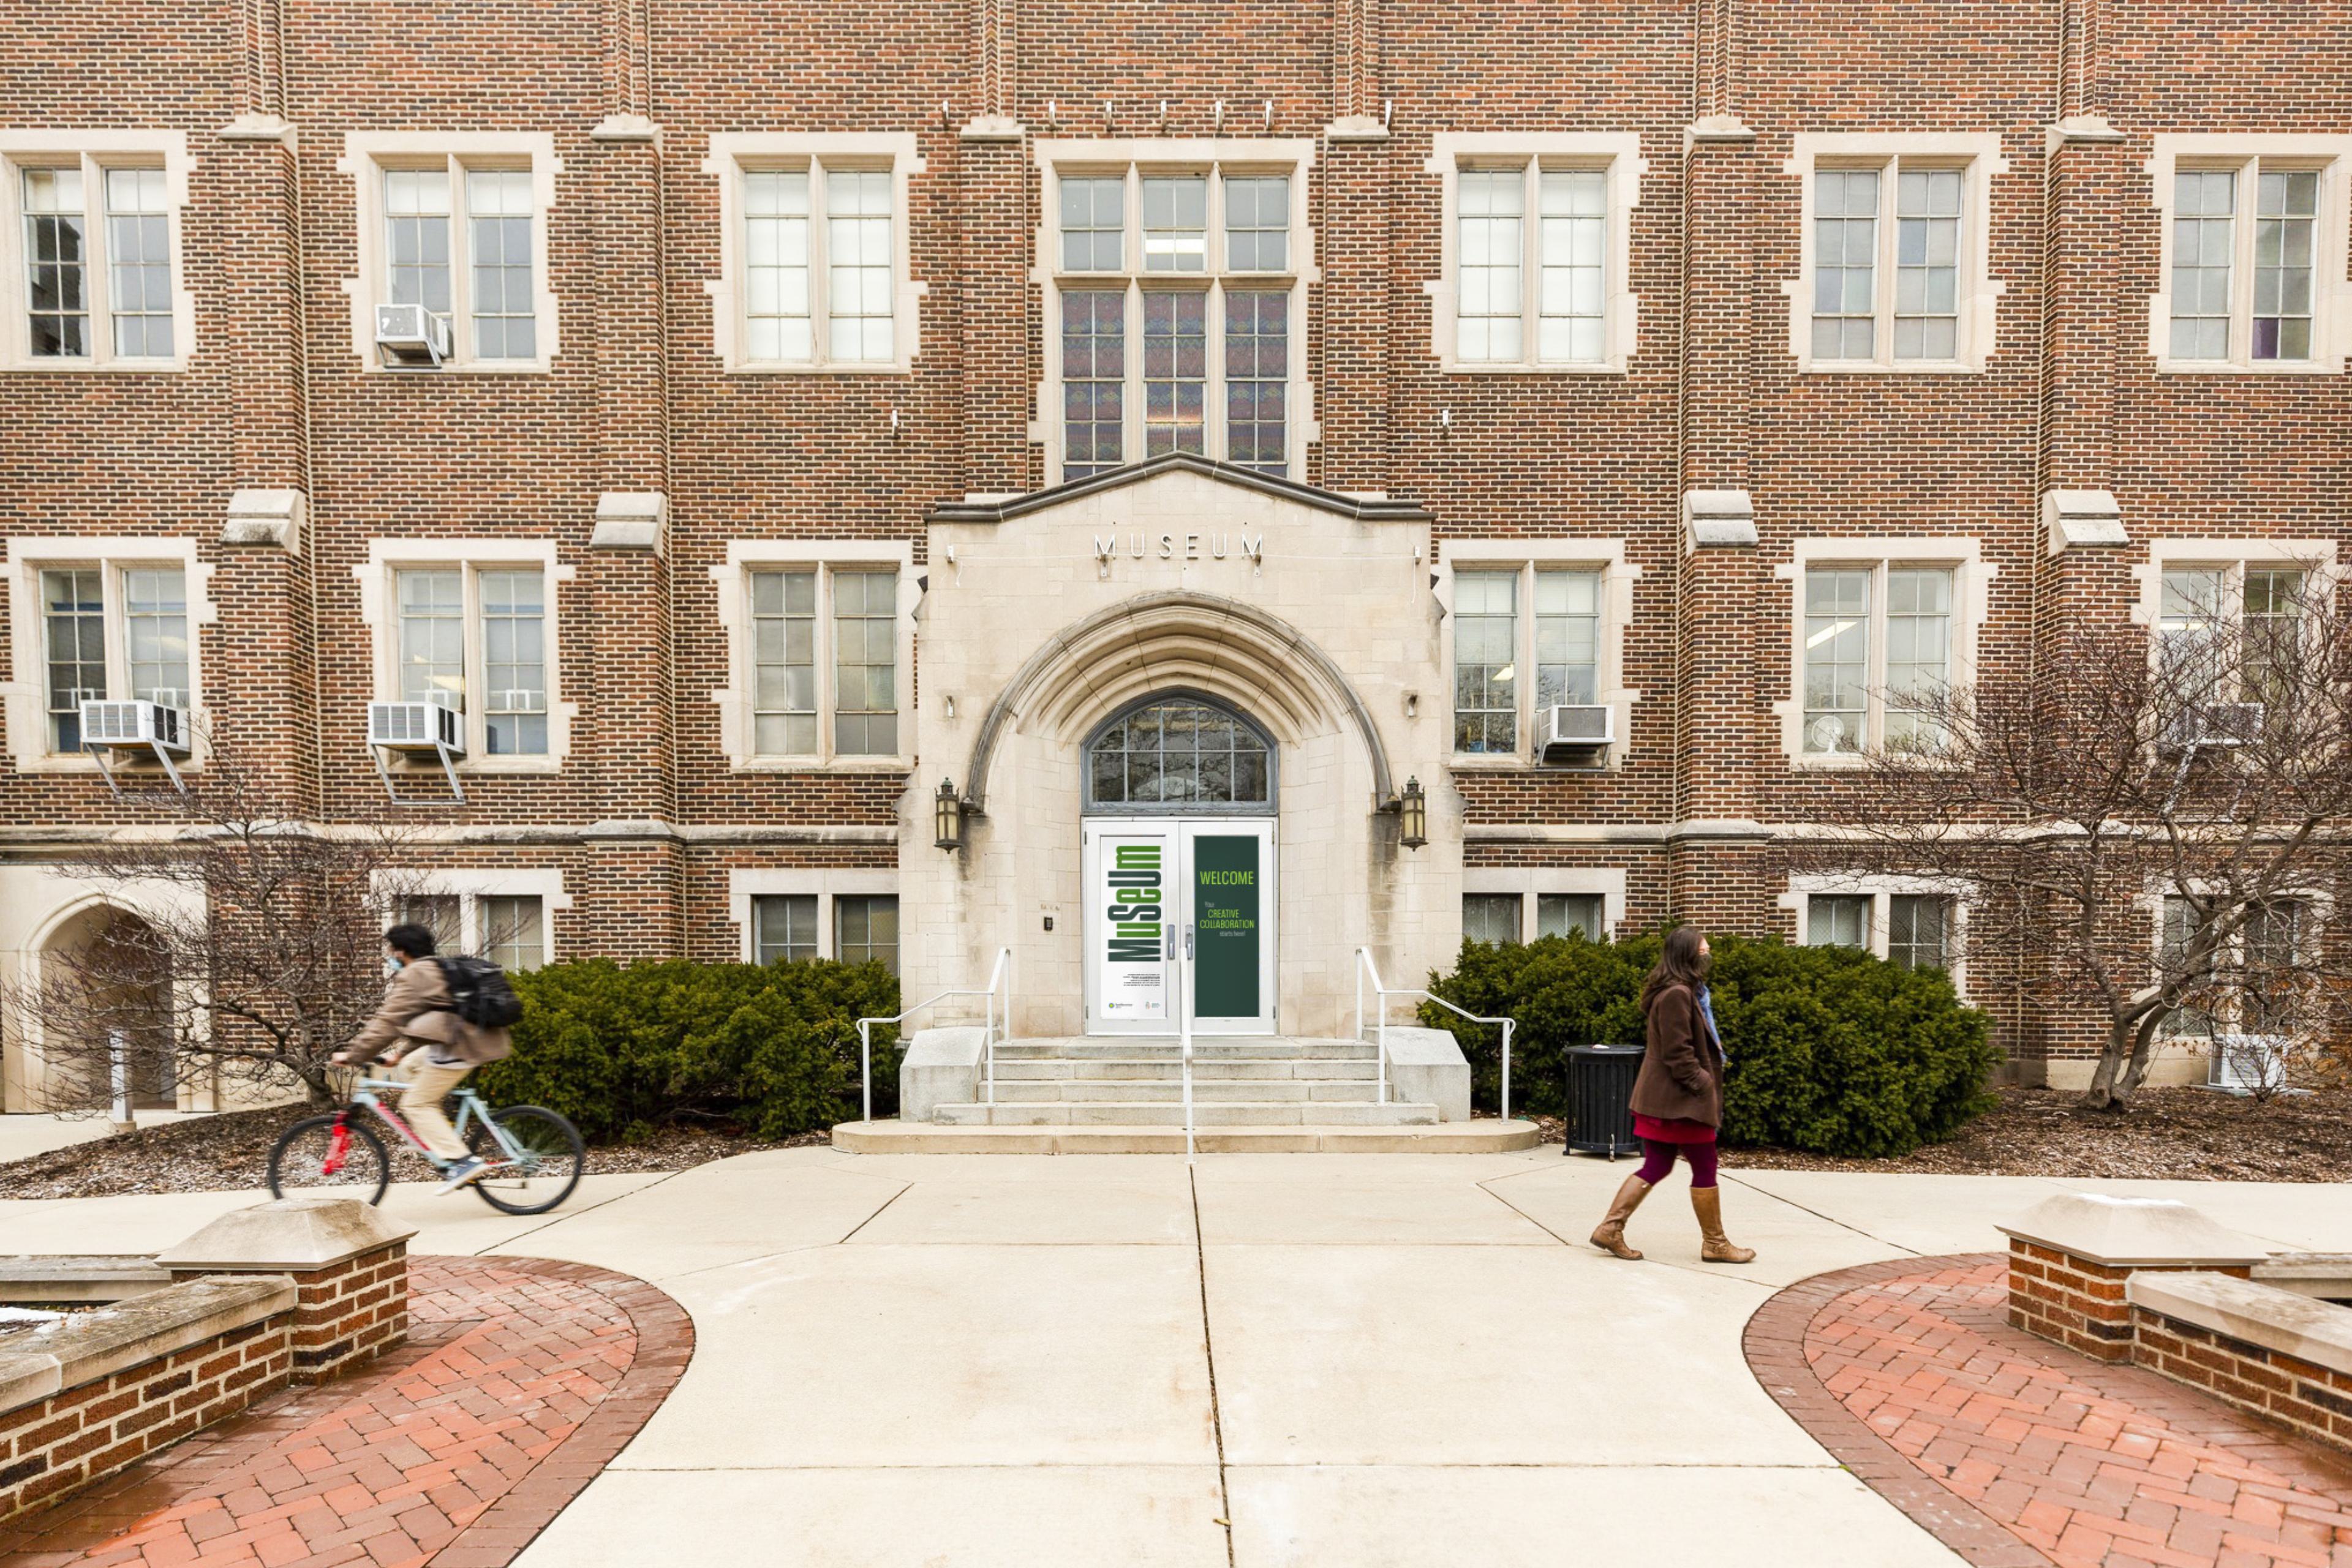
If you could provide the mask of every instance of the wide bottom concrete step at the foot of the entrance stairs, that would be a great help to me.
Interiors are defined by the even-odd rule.
[[[1508,1154],[1543,1138],[1534,1121],[1430,1126],[1202,1126],[1202,1154]],[[833,1147],[851,1154],[1183,1154],[1181,1126],[941,1126],[842,1121]]]

